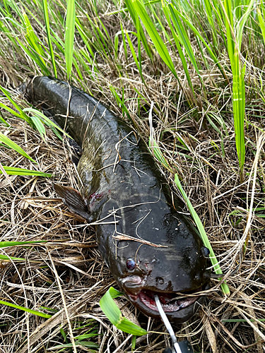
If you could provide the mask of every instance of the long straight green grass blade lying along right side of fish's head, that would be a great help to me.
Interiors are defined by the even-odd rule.
[[[192,215],[192,218],[194,220],[194,222],[196,223],[197,228],[199,229],[199,232],[201,234],[201,239],[204,243],[204,246],[206,246],[206,248],[209,249],[210,251],[210,258],[211,258],[211,263],[213,265],[213,270],[218,274],[223,274],[222,270],[220,269],[220,265],[218,264],[218,260],[213,252],[213,248],[211,247],[210,241],[208,240],[207,234],[204,230],[204,226],[201,223],[201,220],[199,219],[199,216],[196,214],[192,203],[189,201],[189,198],[187,196],[187,194],[185,193],[184,189],[182,188],[182,185],[180,184],[179,181],[179,177],[177,176],[177,174],[175,174],[175,184],[177,185],[177,189],[179,189],[179,191],[182,193],[182,196],[185,200],[185,202],[187,203],[187,207],[189,208],[189,212]],[[228,285],[226,283],[223,283],[221,285],[221,288],[223,290],[223,294],[230,294],[230,290],[228,288]]]

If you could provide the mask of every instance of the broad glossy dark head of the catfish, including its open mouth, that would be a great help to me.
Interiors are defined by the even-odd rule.
[[[112,273],[126,297],[143,313],[160,318],[154,295],[158,294],[170,321],[183,323],[204,300],[199,292],[209,278],[207,249],[196,229],[169,215],[153,245],[144,241],[119,241]],[[150,230],[149,230],[150,232]],[[159,246],[160,245],[160,246]]]

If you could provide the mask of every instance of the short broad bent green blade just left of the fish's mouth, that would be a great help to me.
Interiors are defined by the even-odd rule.
[[[132,323],[127,318],[124,318],[124,316],[122,316],[122,312],[114,303],[112,298],[119,297],[121,294],[121,292],[118,292],[113,287],[110,287],[110,289],[100,299],[100,308],[102,309],[103,313],[105,313],[105,316],[107,316],[110,322],[119,330],[122,330],[126,333],[131,333],[131,335],[146,335],[147,331],[143,330],[143,328],[140,328],[135,323]]]

